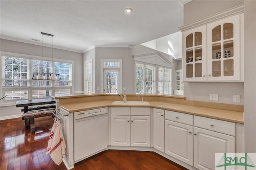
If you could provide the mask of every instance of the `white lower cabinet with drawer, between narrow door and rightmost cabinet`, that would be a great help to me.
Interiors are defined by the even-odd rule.
[[[193,116],[166,111],[165,119],[165,153],[193,166]]]

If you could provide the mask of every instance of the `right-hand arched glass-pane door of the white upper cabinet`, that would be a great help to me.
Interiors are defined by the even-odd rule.
[[[239,17],[207,25],[208,81],[240,80]]]

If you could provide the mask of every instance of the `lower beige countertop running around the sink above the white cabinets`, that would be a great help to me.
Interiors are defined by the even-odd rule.
[[[223,121],[230,121],[234,123],[244,123],[244,114],[239,111],[229,111],[224,109],[214,109],[208,107],[200,107],[194,105],[184,105],[178,103],[170,103],[163,101],[148,101],[150,105],[112,105],[113,101],[86,101],[77,103],[63,103],[60,107],[68,112],[84,111],[89,109],[97,109],[101,107],[154,107],[157,109],[165,109],[169,111],[176,111],[180,113],[187,113],[191,115],[198,115]]]

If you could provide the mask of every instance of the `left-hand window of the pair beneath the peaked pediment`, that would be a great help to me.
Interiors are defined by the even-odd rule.
[[[155,66],[136,63],[136,93],[155,93]]]

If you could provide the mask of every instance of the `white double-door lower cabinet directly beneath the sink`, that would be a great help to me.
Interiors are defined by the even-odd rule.
[[[150,108],[111,108],[112,146],[150,146]]]

